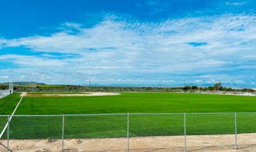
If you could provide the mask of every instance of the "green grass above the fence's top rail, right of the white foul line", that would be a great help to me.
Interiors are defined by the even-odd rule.
[[[14,100],[16,101],[16,99]],[[13,104],[16,103],[13,102]],[[127,112],[256,112],[256,97],[199,93],[121,93],[119,96],[24,97],[16,114]]]

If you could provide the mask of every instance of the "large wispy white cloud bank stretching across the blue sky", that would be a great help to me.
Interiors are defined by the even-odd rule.
[[[143,78],[150,83],[153,77],[159,77],[159,83],[183,83],[189,79],[191,83],[228,79],[237,83],[232,71],[255,69],[255,26],[256,16],[244,14],[168,19],[158,23],[116,20],[112,16],[91,28],[64,23],[59,28],[61,32],[50,36],[0,39],[0,48],[25,47],[32,51],[31,55],[3,54],[0,61],[11,62],[26,72],[33,72],[33,77],[49,81],[62,77],[59,81],[79,82],[95,77],[98,81],[122,83],[141,82]],[[193,47],[189,42],[207,44]],[[38,56],[34,52],[42,54]],[[19,68],[16,72],[28,75]],[[182,82],[177,75],[183,75]],[[216,75],[218,79],[212,79]],[[240,75],[247,73],[238,74],[242,79]]]

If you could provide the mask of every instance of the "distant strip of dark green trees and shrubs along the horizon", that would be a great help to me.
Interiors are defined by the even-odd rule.
[[[8,85],[0,85],[0,89],[8,89]],[[96,92],[186,92],[186,91],[247,91],[255,92],[253,89],[232,89],[231,87],[223,87],[222,83],[215,83],[209,87],[198,87],[196,85],[185,87],[111,87],[111,86],[79,86],[79,85],[15,85],[14,91],[22,92],[82,92],[82,91],[96,91]]]

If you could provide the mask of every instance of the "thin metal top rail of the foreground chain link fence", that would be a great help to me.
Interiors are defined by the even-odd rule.
[[[189,115],[189,114],[256,114],[256,112],[204,112],[204,113],[117,113],[117,114],[26,114],[26,115],[13,115],[13,117],[18,116],[111,116],[111,115]],[[11,116],[11,115],[0,115]]]

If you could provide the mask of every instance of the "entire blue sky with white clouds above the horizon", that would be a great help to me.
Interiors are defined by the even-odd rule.
[[[1,1],[0,82],[255,87],[255,5]]]

